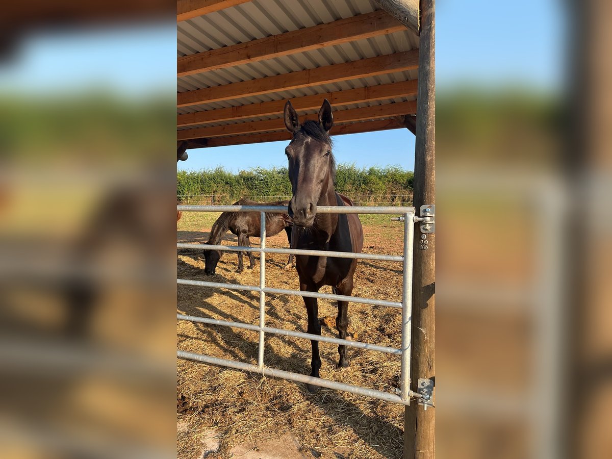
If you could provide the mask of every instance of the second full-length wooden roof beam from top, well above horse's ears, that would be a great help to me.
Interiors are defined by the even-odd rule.
[[[287,91],[289,89],[308,88],[310,86],[336,83],[337,81],[354,78],[383,75],[384,73],[414,70],[418,66],[418,61],[419,50],[386,54],[385,56],[376,56],[375,58],[361,59],[360,61],[326,65],[317,69],[301,70],[282,75],[266,76],[256,80],[213,86],[212,88],[179,92],[177,94],[177,105],[181,107],[198,105],[200,103],[220,102],[221,100],[239,99],[240,97]]]

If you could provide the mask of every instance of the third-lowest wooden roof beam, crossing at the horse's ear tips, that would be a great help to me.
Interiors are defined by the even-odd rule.
[[[333,106],[349,103],[370,102],[372,100],[393,99],[394,97],[411,97],[417,94],[417,80],[398,81],[398,83],[366,86],[365,88],[345,89],[345,91],[326,92],[325,94],[305,95],[291,99],[291,105],[297,111],[318,110],[323,99]],[[216,110],[196,111],[177,116],[177,126],[192,126],[209,122],[228,121],[255,116],[274,116],[283,113],[285,99],[271,102],[252,103],[249,105],[218,108]]]

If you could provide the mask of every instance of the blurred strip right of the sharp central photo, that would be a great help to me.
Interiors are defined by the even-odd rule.
[[[437,4],[440,457],[612,456],[611,12]]]

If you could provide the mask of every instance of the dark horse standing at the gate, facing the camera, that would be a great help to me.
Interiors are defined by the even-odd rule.
[[[293,220],[292,248],[332,250],[334,252],[361,252],[364,232],[357,214],[317,214],[317,206],[353,206],[346,196],[334,190],[335,160],[329,130],[334,125],[332,107],[323,102],[319,122],[300,124],[291,102],[285,104],[285,126],[293,133],[293,140],[285,149],[289,160],[289,181],[293,197],[288,214]],[[353,292],[353,274],[357,267],[354,258],[296,255],[300,290],[317,292],[324,285],[332,286],[335,294]],[[304,297],[308,313],[308,333],[321,335],[316,298]],[[336,327],[341,339],[346,338],[348,302],[338,301]],[[319,341],[312,345],[311,376],[319,377],[321,358]],[[346,346],[338,346],[338,367],[348,367]],[[307,384],[310,392],[318,387]]]

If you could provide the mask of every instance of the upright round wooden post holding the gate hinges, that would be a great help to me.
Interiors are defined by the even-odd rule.
[[[417,94],[414,199],[435,204],[435,0],[420,0],[419,89]],[[428,250],[419,250],[420,231],[414,232],[412,293],[411,389],[417,379],[435,378],[435,250],[436,236],[428,234]],[[435,391],[432,399],[435,404]],[[404,419],[404,459],[435,457],[435,408],[424,411],[412,403]]]

